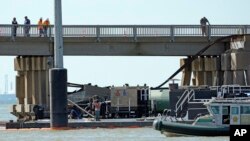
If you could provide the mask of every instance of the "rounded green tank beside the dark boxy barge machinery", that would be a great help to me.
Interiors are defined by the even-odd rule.
[[[151,90],[149,95],[151,101],[151,109],[155,109],[157,113],[162,113],[164,109],[170,109],[169,90]]]

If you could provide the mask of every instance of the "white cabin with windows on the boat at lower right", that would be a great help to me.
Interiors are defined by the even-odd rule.
[[[250,124],[250,98],[212,99],[206,104],[215,125]]]

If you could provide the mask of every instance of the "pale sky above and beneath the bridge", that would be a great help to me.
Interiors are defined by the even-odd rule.
[[[0,24],[19,24],[28,16],[54,22],[54,0],[1,0]],[[249,0],[62,0],[63,24],[67,25],[189,25],[206,16],[211,24],[250,23]],[[0,93],[5,76],[15,83],[13,57],[0,57]],[[64,57],[68,80],[99,86],[157,86],[179,67],[178,57]],[[178,75],[177,78],[180,78]],[[10,84],[9,84],[10,86]],[[9,88],[10,90],[10,88]],[[13,89],[14,90],[14,89]]]

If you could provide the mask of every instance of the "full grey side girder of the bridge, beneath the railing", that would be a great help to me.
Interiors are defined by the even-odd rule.
[[[215,40],[218,37],[211,39]],[[0,37],[2,56],[51,56],[53,38]],[[192,56],[209,44],[206,37],[65,37],[64,55],[70,56]],[[220,55],[229,41],[215,44],[204,55]]]

